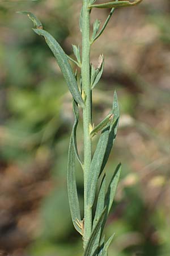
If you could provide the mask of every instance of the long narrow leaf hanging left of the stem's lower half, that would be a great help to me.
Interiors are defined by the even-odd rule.
[[[77,222],[81,222],[80,208],[78,193],[76,189],[76,179],[75,179],[75,152],[73,144],[73,134],[71,134],[69,153],[68,153],[68,165],[67,165],[67,189],[69,195],[69,204],[71,218],[75,229],[82,234],[82,229],[77,225]]]

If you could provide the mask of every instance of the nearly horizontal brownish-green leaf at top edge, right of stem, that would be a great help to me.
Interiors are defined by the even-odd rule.
[[[101,3],[99,5],[90,5],[89,8],[100,8],[100,9],[105,9],[105,8],[120,8],[120,7],[130,7],[137,5],[138,3],[141,3],[142,0],[134,0],[134,2],[130,1],[113,1],[113,2],[107,2],[107,3]]]

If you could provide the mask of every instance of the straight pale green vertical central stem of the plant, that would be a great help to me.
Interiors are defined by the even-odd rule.
[[[91,86],[90,86],[90,9],[88,0],[83,0],[82,13],[82,88],[86,96],[83,109],[84,133],[84,247],[92,230],[92,209],[87,205],[87,176],[91,165],[91,137],[89,125],[91,123]]]

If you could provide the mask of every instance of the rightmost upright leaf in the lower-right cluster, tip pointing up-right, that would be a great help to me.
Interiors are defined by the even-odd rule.
[[[105,212],[105,218],[103,221],[103,225],[101,227],[101,232],[103,232],[105,222],[107,221],[107,217],[111,210],[111,207],[112,207],[112,204],[114,201],[114,196],[116,195],[116,189],[117,189],[118,181],[120,179],[120,175],[121,175],[121,164],[118,164],[118,166],[116,167],[116,170],[114,171],[112,179],[108,185],[107,193],[105,195],[105,203],[104,204],[107,209]]]

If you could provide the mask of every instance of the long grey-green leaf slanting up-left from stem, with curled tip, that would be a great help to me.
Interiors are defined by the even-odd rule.
[[[75,79],[75,75],[73,73],[73,70],[71,69],[66,53],[63,51],[63,49],[58,44],[56,39],[54,39],[53,36],[50,35],[48,32],[46,32],[45,30],[39,30],[39,29],[33,28],[33,31],[35,31],[36,34],[38,35],[44,36],[46,43],[48,44],[49,48],[53,52],[54,56],[56,57],[59,68],[61,69],[62,74],[65,77],[65,80],[67,82],[67,85],[69,87],[69,90],[74,100],[80,106],[84,107],[84,101],[82,100],[82,96],[80,94],[80,91]]]

